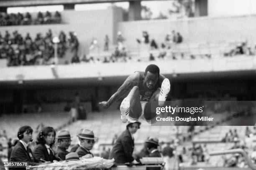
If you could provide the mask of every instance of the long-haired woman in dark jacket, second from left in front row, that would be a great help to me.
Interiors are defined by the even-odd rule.
[[[44,127],[37,135],[36,147],[34,148],[34,155],[39,162],[53,162],[58,160],[58,156],[52,150],[55,143],[56,132],[52,127]]]

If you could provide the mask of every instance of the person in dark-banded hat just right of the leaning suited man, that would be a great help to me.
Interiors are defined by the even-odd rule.
[[[149,152],[148,157],[161,157],[159,150],[157,150],[158,146],[157,138],[148,138],[148,140],[146,140],[146,147]]]

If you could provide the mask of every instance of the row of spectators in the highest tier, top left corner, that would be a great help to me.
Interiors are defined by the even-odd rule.
[[[61,23],[61,14],[56,11],[54,15],[49,11],[45,14],[38,12],[37,18],[32,18],[30,13],[0,13],[0,26],[9,25],[34,25],[34,24],[55,24]]]

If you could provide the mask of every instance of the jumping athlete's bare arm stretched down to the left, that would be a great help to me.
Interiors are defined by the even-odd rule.
[[[123,82],[123,85],[119,87],[119,89],[110,97],[108,101],[99,102],[99,104],[102,107],[108,108],[110,105],[113,104],[113,102],[119,100],[120,97],[127,94],[134,86],[138,85],[139,78],[139,72],[133,73],[132,75],[127,77],[125,82]]]

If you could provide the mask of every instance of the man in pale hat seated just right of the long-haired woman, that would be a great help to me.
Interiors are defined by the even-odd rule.
[[[57,139],[57,150],[56,153],[58,154],[61,160],[65,160],[66,155],[69,153],[67,149],[71,144],[71,136],[68,130],[60,130],[56,136]]]

